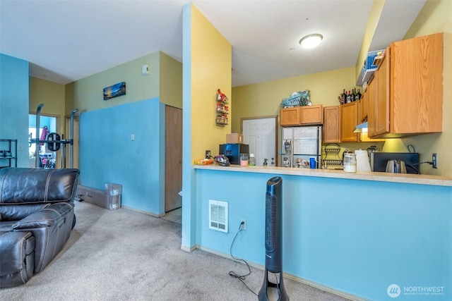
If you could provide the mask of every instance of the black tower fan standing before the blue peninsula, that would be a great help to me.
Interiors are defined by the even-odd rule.
[[[267,181],[266,192],[266,269],[263,284],[258,293],[259,301],[268,300],[267,289],[278,289],[278,301],[289,300],[283,283],[283,259],[282,259],[282,192],[281,177],[273,177]],[[268,273],[275,274],[276,283],[270,282]],[[278,281],[279,274],[279,281]],[[273,279],[273,277],[270,277]]]

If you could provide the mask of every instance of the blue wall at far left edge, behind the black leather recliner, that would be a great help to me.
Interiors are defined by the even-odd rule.
[[[0,138],[18,140],[18,167],[28,166],[28,94],[28,61],[0,54]]]

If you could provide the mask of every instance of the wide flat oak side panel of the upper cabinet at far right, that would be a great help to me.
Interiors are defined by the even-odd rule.
[[[391,133],[441,132],[443,34],[391,43],[390,59]]]

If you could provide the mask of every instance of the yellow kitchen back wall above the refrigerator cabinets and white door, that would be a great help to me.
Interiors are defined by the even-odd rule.
[[[339,104],[343,89],[351,90],[355,84],[355,68],[350,67],[234,87],[232,131],[242,132],[240,118],[279,115],[281,101],[293,92],[309,90],[312,104],[333,106]]]

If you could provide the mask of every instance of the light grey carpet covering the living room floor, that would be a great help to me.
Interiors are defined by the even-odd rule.
[[[257,300],[228,274],[246,274],[243,263],[182,251],[179,223],[86,202],[76,202],[76,216],[58,256],[28,283],[1,289],[0,300]],[[263,271],[251,267],[244,281],[258,293]],[[346,300],[287,278],[284,285],[290,300]]]

